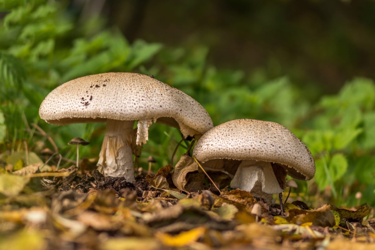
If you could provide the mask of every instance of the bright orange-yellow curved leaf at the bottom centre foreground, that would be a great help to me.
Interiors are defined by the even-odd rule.
[[[204,227],[198,227],[191,229],[186,232],[182,232],[177,235],[164,234],[157,232],[155,237],[162,241],[163,244],[171,247],[183,247],[187,246],[199,239],[206,229]]]

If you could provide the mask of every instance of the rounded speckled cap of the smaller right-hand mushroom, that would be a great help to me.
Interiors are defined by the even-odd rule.
[[[279,123],[251,119],[228,121],[208,130],[196,142],[193,156],[202,163],[215,159],[278,163],[300,180],[315,174],[311,152]]]

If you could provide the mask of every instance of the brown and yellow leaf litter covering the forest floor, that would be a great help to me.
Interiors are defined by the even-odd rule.
[[[368,205],[356,211],[333,205],[309,209],[297,201],[284,204],[281,214],[277,204],[249,192],[224,186],[219,193],[188,156],[134,183],[96,170],[81,175],[76,166],[41,167],[36,161],[0,173],[0,249],[375,246],[375,220],[363,223],[371,216]],[[227,183],[222,173],[211,177],[217,186]]]

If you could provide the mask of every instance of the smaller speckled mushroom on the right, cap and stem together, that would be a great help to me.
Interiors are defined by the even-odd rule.
[[[314,159],[303,142],[281,124],[251,119],[228,121],[208,130],[193,156],[206,170],[234,175],[231,187],[272,201],[285,189],[286,175],[310,180]]]

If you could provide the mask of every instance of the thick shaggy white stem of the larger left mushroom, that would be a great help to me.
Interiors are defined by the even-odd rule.
[[[133,182],[133,125],[134,121],[107,120],[98,169],[104,176],[125,177]]]

